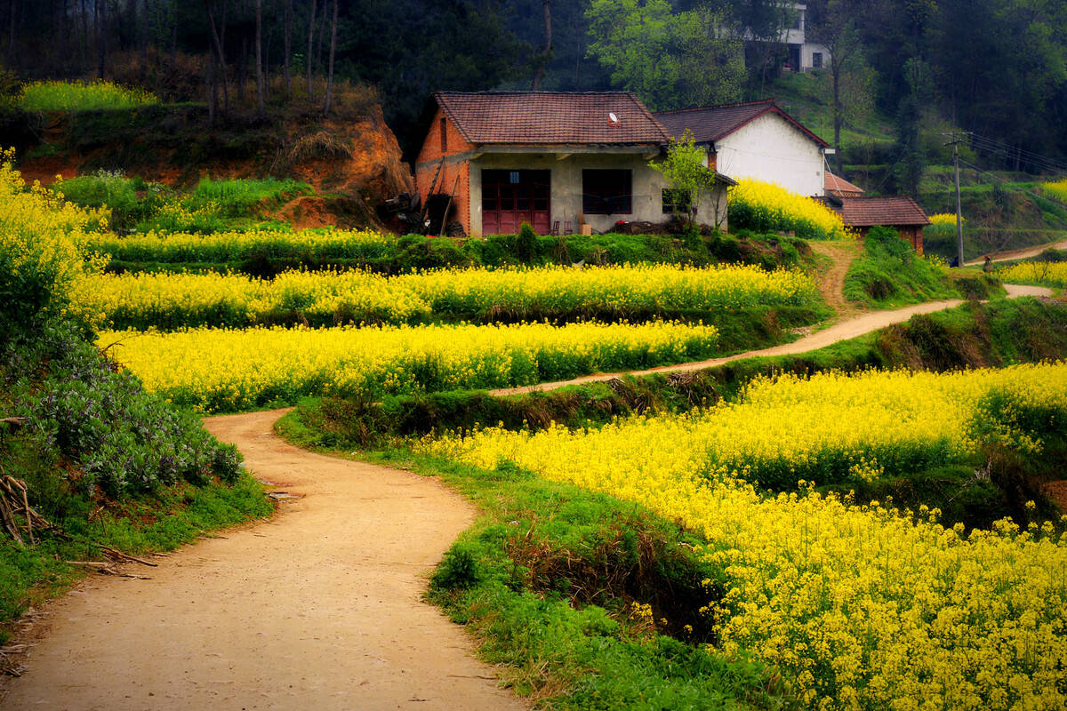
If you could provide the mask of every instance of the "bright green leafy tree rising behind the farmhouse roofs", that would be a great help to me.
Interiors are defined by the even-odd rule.
[[[740,96],[744,52],[721,14],[674,13],[667,0],[592,0],[589,55],[653,111]]]

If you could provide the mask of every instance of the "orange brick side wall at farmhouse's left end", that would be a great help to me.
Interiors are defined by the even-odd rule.
[[[444,123],[444,142],[442,142],[442,122]],[[452,191],[455,185],[451,219],[462,222],[463,229],[467,233],[471,232],[471,153],[474,152],[474,145],[456,130],[452,122],[439,108],[423,142],[423,148],[418,151],[418,159],[415,161],[415,188],[424,203],[435,175],[437,183],[433,188],[433,192],[447,194]],[[442,158],[445,159],[445,162],[439,175],[437,166],[441,165]]]

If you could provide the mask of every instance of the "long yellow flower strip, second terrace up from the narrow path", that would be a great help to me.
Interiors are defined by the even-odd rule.
[[[243,326],[300,311],[313,324],[409,323],[434,314],[626,318],[748,306],[815,306],[818,289],[798,271],[729,265],[287,272],[273,281],[242,275],[129,274],[86,279],[78,300],[101,328]]]

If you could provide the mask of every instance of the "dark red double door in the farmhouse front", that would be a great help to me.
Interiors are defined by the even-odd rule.
[[[482,235],[514,235],[524,222],[547,235],[551,193],[551,171],[482,171]]]

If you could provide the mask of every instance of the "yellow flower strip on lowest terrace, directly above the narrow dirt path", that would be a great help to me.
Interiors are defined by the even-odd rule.
[[[216,411],[325,392],[529,385],[698,360],[717,340],[713,326],[655,322],[109,332],[98,343],[149,390]]]

